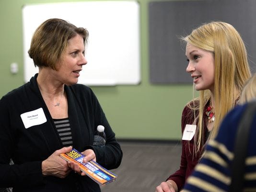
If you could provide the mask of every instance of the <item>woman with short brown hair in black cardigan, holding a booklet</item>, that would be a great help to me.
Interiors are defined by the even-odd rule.
[[[59,154],[71,146],[106,169],[122,151],[93,91],[77,84],[88,32],[61,19],[35,31],[28,51],[38,74],[0,100],[0,187],[15,192],[100,192],[99,185]],[[98,125],[106,144],[93,146]],[[10,159],[14,165],[10,165]]]

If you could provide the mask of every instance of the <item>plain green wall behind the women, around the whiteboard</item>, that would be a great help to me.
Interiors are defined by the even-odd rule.
[[[0,0],[0,97],[23,84],[23,5],[67,1],[71,0]],[[150,83],[149,0],[139,2],[141,83],[92,89],[117,138],[177,140],[181,138],[182,109],[192,98],[192,80],[191,85]],[[15,75],[10,72],[12,62],[19,66]]]

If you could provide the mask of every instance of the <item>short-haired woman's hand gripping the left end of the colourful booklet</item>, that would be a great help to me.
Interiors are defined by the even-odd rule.
[[[63,147],[56,150],[50,157],[42,162],[42,174],[44,176],[52,175],[59,178],[65,178],[70,173],[71,169],[68,162],[59,157],[61,153],[68,153],[72,147]]]

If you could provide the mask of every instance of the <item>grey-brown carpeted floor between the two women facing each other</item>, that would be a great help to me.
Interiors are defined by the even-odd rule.
[[[102,192],[155,192],[162,181],[179,168],[181,142],[119,141],[123,160],[111,170],[117,179]]]

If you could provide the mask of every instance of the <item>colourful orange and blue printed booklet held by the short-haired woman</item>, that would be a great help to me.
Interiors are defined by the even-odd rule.
[[[85,156],[74,148],[68,153],[61,153],[60,157],[68,162],[77,163],[81,171],[100,185],[105,185],[116,180],[117,175],[105,169],[97,162],[90,160],[84,163],[83,158]]]

